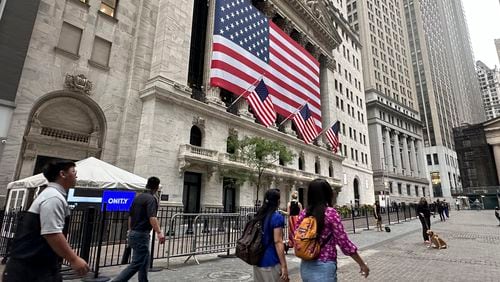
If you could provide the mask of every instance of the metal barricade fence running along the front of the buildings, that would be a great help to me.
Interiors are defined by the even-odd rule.
[[[258,207],[239,207],[231,212],[223,208],[202,209],[200,213],[183,213],[183,207],[161,207],[158,220],[165,233],[165,244],[154,242],[153,259],[186,257],[197,263],[197,255],[234,252],[243,228]],[[347,232],[369,230],[376,225],[373,208],[338,207]],[[382,209],[384,224],[399,223],[416,216],[414,205],[394,206]],[[0,256],[8,257],[17,226],[22,222],[21,211],[0,211]],[[128,263],[123,261],[127,248],[127,212],[103,212],[98,208],[73,210],[65,234],[71,247],[85,259],[97,277],[100,267]],[[285,225],[288,220],[285,220]],[[288,240],[288,226],[284,229],[284,241]],[[64,262],[66,265],[67,262]]]

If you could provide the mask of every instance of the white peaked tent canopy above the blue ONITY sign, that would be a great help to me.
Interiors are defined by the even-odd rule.
[[[147,182],[145,178],[94,157],[76,162],[76,171],[78,179],[75,188],[142,190]],[[47,179],[40,173],[11,182],[7,189],[36,188],[47,183]]]

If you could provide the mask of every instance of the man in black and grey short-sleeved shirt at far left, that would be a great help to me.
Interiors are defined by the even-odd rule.
[[[66,194],[76,184],[75,166],[71,161],[51,162],[45,166],[43,175],[49,183],[24,214],[2,281],[62,281],[63,258],[78,275],[89,271],[88,264],[71,249],[63,234],[69,218]]]

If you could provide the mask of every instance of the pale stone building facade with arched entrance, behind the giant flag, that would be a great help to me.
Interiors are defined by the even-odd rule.
[[[228,155],[228,137],[261,136],[282,142],[296,155],[291,164],[276,163],[265,174],[265,188],[280,188],[283,206],[292,190],[305,201],[307,184],[317,177],[341,191],[339,204],[356,200],[356,180],[359,203],[372,203],[369,162],[356,168],[353,161],[354,172],[346,173],[344,157],[333,154],[323,137],[306,145],[290,121],[265,128],[243,99],[228,108],[234,95],[210,87],[214,3],[40,1],[0,156],[0,187],[39,172],[54,158],[95,156],[143,177],[160,177],[162,204],[183,205],[190,212],[232,210],[257,199],[252,184],[229,184],[227,169],[245,165]],[[341,21],[333,4],[252,3],[321,62],[323,127],[340,119],[333,97],[334,79],[341,74],[336,74],[332,50],[344,38],[333,28]],[[369,159],[363,146],[349,144]],[[259,195],[262,199],[262,191]]]

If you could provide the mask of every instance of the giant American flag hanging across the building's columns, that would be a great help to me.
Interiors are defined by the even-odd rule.
[[[250,0],[216,0],[210,83],[242,95],[263,77],[277,113],[309,105],[321,130],[319,63]]]

